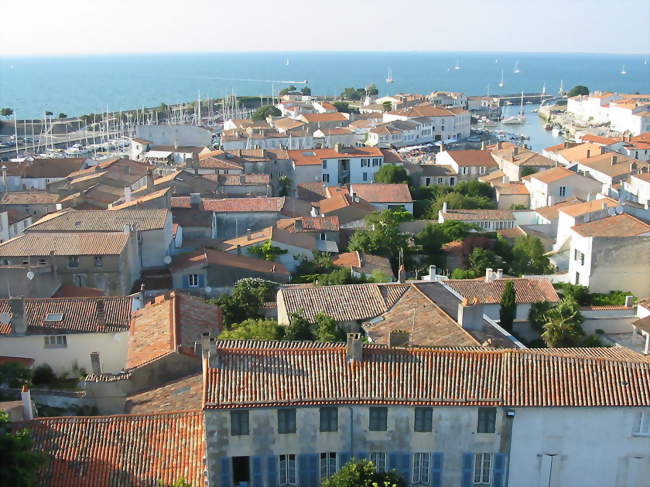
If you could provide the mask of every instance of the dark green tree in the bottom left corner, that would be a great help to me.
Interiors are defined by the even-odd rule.
[[[32,487],[36,485],[45,456],[33,451],[27,429],[13,431],[9,416],[0,412],[0,485]]]

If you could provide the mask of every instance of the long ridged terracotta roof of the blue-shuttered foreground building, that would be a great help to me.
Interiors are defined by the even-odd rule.
[[[650,358],[623,349],[480,350],[218,341],[207,408],[384,404],[648,406]]]

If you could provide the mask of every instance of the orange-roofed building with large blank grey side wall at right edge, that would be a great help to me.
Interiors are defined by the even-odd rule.
[[[620,209],[619,209],[620,208]],[[619,207],[571,227],[569,279],[592,292],[650,294],[650,224]]]

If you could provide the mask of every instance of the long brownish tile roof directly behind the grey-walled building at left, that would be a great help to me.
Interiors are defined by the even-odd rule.
[[[63,210],[49,214],[29,227],[29,232],[122,232],[124,225],[137,224],[142,231],[165,227],[167,209],[128,209],[119,211]]]

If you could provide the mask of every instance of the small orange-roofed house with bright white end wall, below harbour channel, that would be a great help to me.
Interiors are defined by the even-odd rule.
[[[530,193],[533,210],[570,198],[587,200],[603,187],[599,181],[561,166],[525,176],[522,181]]]

